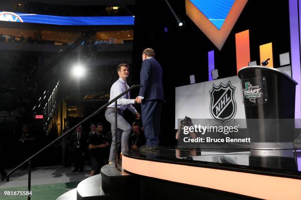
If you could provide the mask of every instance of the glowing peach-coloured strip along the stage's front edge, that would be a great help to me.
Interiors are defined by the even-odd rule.
[[[155,162],[122,156],[122,168],[136,175],[261,199],[301,199],[301,179]]]

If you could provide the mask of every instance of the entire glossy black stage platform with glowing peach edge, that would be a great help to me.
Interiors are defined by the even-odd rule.
[[[244,145],[212,144],[129,150],[122,168],[139,176],[140,199],[301,199],[299,149],[258,154]]]

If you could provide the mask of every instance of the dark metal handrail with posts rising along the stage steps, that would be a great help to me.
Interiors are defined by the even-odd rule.
[[[88,116],[86,119],[84,119],[83,121],[79,122],[77,125],[73,126],[72,128],[70,128],[68,131],[66,131],[64,134],[62,134],[60,137],[58,137],[57,139],[55,139],[54,141],[52,141],[50,144],[46,145],[43,149],[39,150],[38,152],[36,152],[35,154],[33,154],[32,156],[30,156],[28,159],[26,159],[23,163],[21,163],[20,165],[18,165],[16,168],[14,168],[13,170],[11,170],[7,175],[6,175],[6,181],[9,181],[9,176],[14,173],[16,170],[18,170],[21,166],[23,166],[26,162],[31,162],[31,159],[33,157],[35,157],[37,154],[39,154],[40,152],[42,152],[43,150],[47,149],[48,147],[50,147],[51,145],[53,145],[55,142],[57,142],[58,140],[60,140],[61,138],[63,138],[65,135],[67,135],[68,133],[70,133],[74,128],[76,128],[77,126],[87,122],[91,117],[95,116],[96,114],[98,114],[100,111],[102,111],[103,109],[105,109],[108,105],[110,105],[111,103],[115,102],[115,113],[117,113],[117,100],[122,97],[124,94],[128,93],[129,91],[131,91],[134,88],[137,87],[142,87],[141,85],[133,85],[130,88],[128,88],[127,90],[125,90],[124,92],[122,92],[120,95],[118,95],[116,98],[114,98],[113,100],[110,100],[109,102],[107,102],[106,104],[104,104],[103,106],[101,106],[100,108],[98,108],[95,112],[93,112],[90,116]],[[115,115],[115,119],[117,118],[117,115]],[[117,134],[117,119],[115,120],[115,134]],[[113,142],[113,141],[112,141]],[[115,149],[117,152],[117,135],[115,135]],[[115,167],[117,168],[117,153],[115,155]],[[30,166],[29,166],[29,190],[30,190]],[[29,196],[30,199],[30,196]]]

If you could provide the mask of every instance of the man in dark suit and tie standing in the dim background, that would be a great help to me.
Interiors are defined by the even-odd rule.
[[[82,132],[82,126],[76,127],[76,132],[74,132],[70,137],[70,152],[73,154],[74,170],[72,172],[83,172],[84,169],[84,152],[87,150],[87,136]]]

